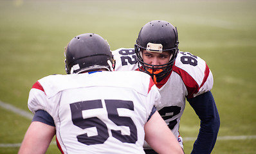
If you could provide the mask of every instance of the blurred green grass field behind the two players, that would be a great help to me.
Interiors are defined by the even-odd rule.
[[[256,1],[0,1],[0,101],[29,112],[35,81],[65,74],[64,46],[81,33],[97,33],[111,49],[133,47],[151,20],[177,26],[179,49],[206,60],[221,117],[212,153],[256,153]],[[30,119],[0,107],[0,153],[17,153]],[[180,133],[190,153],[199,119],[187,103]],[[187,140],[186,140],[187,139]],[[52,144],[47,153],[60,153]]]

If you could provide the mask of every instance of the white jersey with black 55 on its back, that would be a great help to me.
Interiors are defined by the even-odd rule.
[[[30,90],[28,108],[48,112],[62,153],[144,153],[144,124],[160,93],[139,71],[51,75]]]

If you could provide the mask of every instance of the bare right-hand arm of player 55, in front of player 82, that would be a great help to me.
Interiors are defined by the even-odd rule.
[[[145,141],[157,153],[183,153],[181,146],[158,111],[145,124]]]

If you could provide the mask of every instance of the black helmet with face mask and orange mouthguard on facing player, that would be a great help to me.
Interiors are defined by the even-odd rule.
[[[140,71],[150,74],[155,82],[160,82],[172,71],[172,65],[179,52],[178,46],[176,27],[167,21],[148,22],[140,30],[134,45]],[[143,49],[158,53],[169,51],[172,56],[169,62],[164,65],[146,64],[142,58]]]

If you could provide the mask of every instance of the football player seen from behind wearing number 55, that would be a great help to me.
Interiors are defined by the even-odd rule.
[[[66,75],[38,80],[28,108],[35,114],[19,153],[45,153],[56,135],[61,153],[183,153],[154,105],[151,76],[112,72],[113,55],[100,35],[86,33],[66,47]]]

